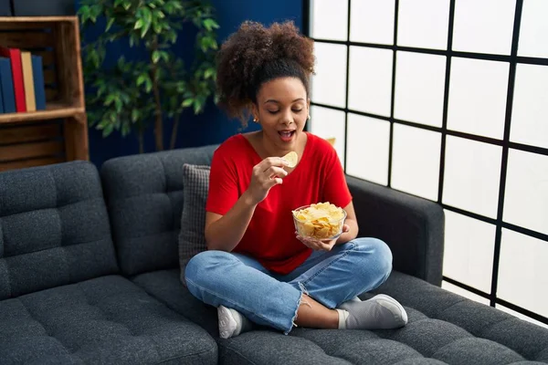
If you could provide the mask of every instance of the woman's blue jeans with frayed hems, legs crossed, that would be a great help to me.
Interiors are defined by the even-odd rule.
[[[257,260],[225,251],[205,251],[186,265],[186,286],[214,307],[234,308],[259,325],[293,328],[302,293],[327,308],[373,290],[392,271],[390,248],[376,238],[356,238],[331,251],[314,251],[288,275],[277,275]]]

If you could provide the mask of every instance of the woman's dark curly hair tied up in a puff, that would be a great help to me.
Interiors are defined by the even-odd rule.
[[[246,21],[217,54],[218,105],[247,126],[260,86],[283,77],[300,78],[307,93],[314,73],[313,41],[292,21],[269,27]]]

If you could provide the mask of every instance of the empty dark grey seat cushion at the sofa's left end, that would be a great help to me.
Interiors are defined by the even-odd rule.
[[[0,301],[2,364],[216,363],[216,342],[121,276]]]

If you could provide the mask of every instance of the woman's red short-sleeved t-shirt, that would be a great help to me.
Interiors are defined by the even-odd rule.
[[[282,275],[311,255],[311,248],[295,236],[291,211],[311,203],[330,202],[344,208],[352,202],[337,152],[328,141],[308,132],[307,136],[299,164],[258,203],[246,233],[233,250]],[[253,167],[261,161],[242,134],[222,143],[211,162],[206,211],[227,214],[248,189]]]

